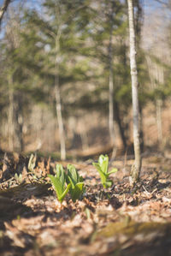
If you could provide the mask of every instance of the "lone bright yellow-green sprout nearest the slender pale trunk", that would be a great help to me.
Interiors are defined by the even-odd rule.
[[[103,188],[109,188],[112,186],[113,182],[111,180],[109,180],[109,176],[115,172],[117,172],[116,168],[113,168],[112,170],[110,170],[108,172],[108,166],[109,166],[109,157],[107,155],[103,156],[100,155],[100,157],[98,158],[98,163],[92,163],[101,178],[101,182],[103,184]]]

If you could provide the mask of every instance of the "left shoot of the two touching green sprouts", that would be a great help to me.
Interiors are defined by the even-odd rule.
[[[56,176],[48,176],[50,177],[50,182],[56,191],[57,199],[62,203],[62,200],[65,198],[69,188],[71,187],[71,184],[68,184],[66,187],[66,175],[62,164],[56,164]]]

